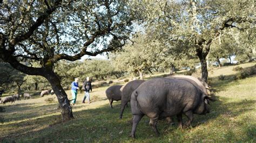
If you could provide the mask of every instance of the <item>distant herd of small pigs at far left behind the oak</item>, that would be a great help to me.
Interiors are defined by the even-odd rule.
[[[1,91],[0,91],[0,93],[1,93],[1,94],[0,94],[0,101],[1,101],[2,104],[5,104],[6,102],[11,102],[11,103],[13,103],[13,102],[15,102],[16,100],[21,100],[21,99],[20,99],[21,96],[20,96],[19,94],[15,94],[15,95],[12,95],[12,96],[7,96],[7,97],[4,97],[3,99],[1,99],[1,96],[2,96],[3,92],[4,92],[4,90],[1,90]],[[51,94],[51,95],[54,94],[54,92],[53,92],[52,89],[41,91],[40,96],[43,97],[44,95],[49,95],[49,94]],[[31,95],[30,95],[29,93],[24,93],[24,94],[23,94],[23,97],[24,97],[24,99],[31,99]]]

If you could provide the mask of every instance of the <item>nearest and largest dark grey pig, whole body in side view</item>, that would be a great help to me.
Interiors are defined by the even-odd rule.
[[[150,118],[150,126],[156,134],[157,121],[161,118],[177,116],[179,127],[182,127],[182,114],[189,119],[185,124],[193,121],[193,113],[199,115],[210,112],[206,96],[197,86],[183,79],[153,78],[145,81],[132,92],[132,132],[135,138],[136,127],[144,115]]]

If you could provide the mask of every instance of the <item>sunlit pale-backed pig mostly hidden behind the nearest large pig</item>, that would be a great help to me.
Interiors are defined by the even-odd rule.
[[[209,90],[209,85],[206,82],[200,81],[198,78],[190,76],[190,75],[173,75],[173,76],[167,76],[165,78],[178,78],[187,80],[188,82],[191,82],[193,85],[198,87],[200,90],[204,92],[205,95],[210,95],[211,92]]]

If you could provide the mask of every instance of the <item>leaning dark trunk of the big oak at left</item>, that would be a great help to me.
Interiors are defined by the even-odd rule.
[[[62,110],[62,121],[73,119],[74,117],[68,95],[66,95],[65,90],[62,88],[58,76],[53,73],[53,71],[50,71],[50,73],[46,75],[46,78],[50,82],[51,87],[58,98],[59,106]]]

